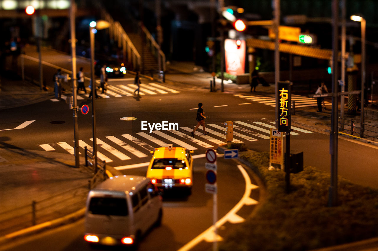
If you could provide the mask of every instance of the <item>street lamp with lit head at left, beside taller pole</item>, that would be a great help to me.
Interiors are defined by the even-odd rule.
[[[93,166],[97,172],[97,138],[96,138],[96,113],[95,113],[95,34],[98,30],[106,29],[110,26],[105,20],[91,21],[89,24],[89,34],[91,43],[91,92],[92,92],[92,135],[93,135]]]

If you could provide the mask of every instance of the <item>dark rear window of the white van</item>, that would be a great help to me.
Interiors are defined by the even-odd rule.
[[[127,216],[126,199],[122,198],[107,198],[107,197],[93,197],[91,198],[88,211],[91,214],[104,214]]]

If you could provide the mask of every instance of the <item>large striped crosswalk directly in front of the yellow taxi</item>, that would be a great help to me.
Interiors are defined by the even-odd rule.
[[[275,122],[268,119],[259,121],[234,121],[234,140],[232,142],[254,142],[260,139],[270,138],[270,129],[275,128]],[[293,131],[290,135],[312,133],[298,127],[291,126]],[[208,124],[206,131],[208,135],[203,135],[203,131],[198,128],[195,137],[191,136],[193,128],[180,127],[180,130],[155,130],[152,133],[137,132],[122,135],[112,135],[97,138],[98,157],[105,162],[128,161],[130,159],[140,159],[151,156],[150,151],[155,147],[166,147],[167,144],[185,147],[189,150],[206,150],[206,148],[216,147],[225,143],[225,125],[223,123]],[[80,139],[80,152],[84,153],[84,147],[93,151],[93,139]],[[74,155],[74,142],[56,142],[39,144],[45,151],[56,151],[70,153]]]

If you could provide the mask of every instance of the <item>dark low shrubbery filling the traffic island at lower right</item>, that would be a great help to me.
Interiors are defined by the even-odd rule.
[[[327,207],[330,175],[314,167],[291,174],[285,193],[285,173],[268,170],[269,154],[248,152],[240,158],[257,168],[266,185],[265,203],[253,217],[230,233],[222,251],[299,251],[378,236],[378,191],[339,177],[338,207]]]

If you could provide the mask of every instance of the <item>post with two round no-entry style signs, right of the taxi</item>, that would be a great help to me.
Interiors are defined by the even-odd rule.
[[[218,230],[217,230],[217,219],[218,219],[218,206],[217,206],[217,153],[215,153],[214,149],[209,148],[206,150],[205,153],[206,159],[210,163],[206,163],[205,167],[208,169],[206,171],[206,181],[208,183],[205,184],[205,191],[206,193],[213,194],[213,229],[214,229],[214,240],[213,240],[213,251],[218,250]]]

